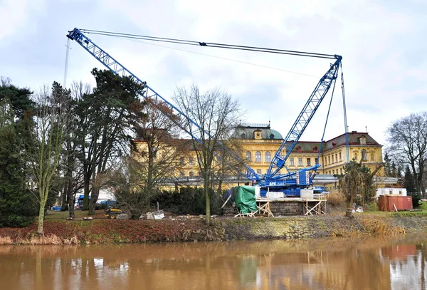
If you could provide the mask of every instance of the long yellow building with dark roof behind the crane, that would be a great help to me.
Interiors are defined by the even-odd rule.
[[[382,162],[382,145],[376,142],[369,133],[352,131],[347,133],[349,138],[349,160],[361,160],[373,171],[376,165]],[[258,174],[265,174],[270,166],[275,152],[283,143],[283,135],[277,130],[270,128],[270,124],[247,124],[239,125],[232,135],[238,139],[243,158]],[[135,140],[139,150],[144,150],[144,141]],[[176,177],[198,177],[200,176],[196,152],[191,145],[191,140],[175,140],[186,150],[180,150],[176,160]],[[282,152],[285,155],[286,147]],[[320,154],[319,154],[320,151]],[[162,154],[160,152],[160,154]],[[344,172],[347,162],[346,135],[342,134],[331,140],[320,142],[300,141],[292,150],[286,160],[286,166],[292,171],[300,170],[319,163],[322,165],[317,169],[321,175],[339,175]],[[285,169],[281,170],[285,173]]]

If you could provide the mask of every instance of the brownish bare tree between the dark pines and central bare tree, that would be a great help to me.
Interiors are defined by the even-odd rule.
[[[168,110],[159,100],[147,99],[131,156],[112,179],[120,181],[115,186],[117,201],[130,211],[132,219],[139,218],[159,187],[170,184],[179,170],[177,159],[185,143],[178,139],[179,117]]]

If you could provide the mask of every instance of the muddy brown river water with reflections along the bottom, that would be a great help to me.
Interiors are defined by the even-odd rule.
[[[0,289],[426,289],[427,236],[0,246]]]

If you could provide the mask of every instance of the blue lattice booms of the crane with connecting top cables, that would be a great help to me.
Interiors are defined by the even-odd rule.
[[[106,31],[91,31],[87,29],[84,29],[84,31],[87,31],[88,33],[95,33],[95,34],[101,34],[106,36],[120,36],[120,37],[132,36],[132,38],[135,38],[135,35],[125,34],[125,33],[109,33]],[[110,54],[108,54],[107,52],[102,50],[102,48],[97,46],[90,38],[88,38],[88,36],[85,36],[85,34],[82,31],[80,31],[79,29],[73,29],[72,31],[68,31],[67,37],[79,43],[80,46],[85,48],[86,51],[88,51],[92,56],[94,56],[98,61],[100,61],[100,63],[102,63],[107,68],[109,68],[115,74],[120,76],[130,77],[137,83],[140,83],[146,86],[147,88],[146,93],[142,95],[142,97],[159,98],[160,100],[162,100],[162,103],[164,103],[164,105],[167,105],[170,111],[184,117],[186,120],[189,121],[191,125],[194,125],[196,126],[196,128],[199,128],[199,132],[208,134],[204,132],[194,120],[191,120],[191,118],[189,118],[186,114],[181,112],[179,108],[176,108],[175,105],[173,105],[172,103],[169,103],[168,100],[164,99],[161,95],[159,95],[157,92],[152,90],[152,88],[147,86],[147,84],[144,81],[141,81],[139,78],[137,78],[137,76],[135,76],[133,73],[127,70],[125,66],[122,66],[121,63],[116,61],[115,58],[112,58]],[[171,41],[171,40],[179,41],[179,43],[181,44],[191,44],[192,42],[194,42],[194,41],[182,41],[182,40],[172,39],[172,38],[155,38],[151,36],[144,36],[144,37],[147,37],[146,40],[162,41],[163,39],[165,41]],[[152,39],[149,39],[149,38],[152,38]],[[310,98],[305,103],[300,114],[295,120],[295,123],[293,123],[290,131],[284,138],[283,143],[281,143],[278,150],[275,152],[275,155],[273,156],[272,161],[270,162],[268,171],[265,174],[265,176],[258,175],[255,172],[255,170],[253,170],[253,168],[249,167],[244,162],[240,162],[241,164],[243,164],[244,167],[246,167],[246,172],[240,172],[240,173],[241,175],[246,176],[248,180],[263,182],[264,185],[268,185],[269,183],[271,184],[272,182],[275,182],[275,180],[276,181],[282,180],[286,185],[286,180],[288,180],[289,178],[293,178],[295,175],[297,175],[297,172],[289,172],[288,168],[286,168],[286,160],[288,159],[292,150],[294,150],[298,140],[300,140],[302,136],[302,133],[304,133],[305,128],[307,128],[307,125],[310,123],[310,120],[312,120],[312,117],[315,115],[317,109],[322,103],[322,100],[324,100],[325,96],[330,90],[332,83],[334,83],[337,80],[338,70],[341,65],[342,56],[327,55],[322,53],[306,53],[301,51],[285,51],[285,50],[279,50],[279,49],[273,49],[273,48],[258,48],[253,46],[234,46],[234,45],[228,45],[228,44],[222,44],[222,43],[207,43],[207,42],[196,42],[196,43],[197,45],[208,46],[208,47],[231,48],[231,49],[241,49],[241,50],[267,52],[267,53],[272,53],[272,52],[282,53],[282,54],[290,54],[295,56],[310,56],[310,57],[318,57],[318,58],[335,59],[334,63],[331,64],[330,69],[325,73],[324,76],[322,76],[322,78],[320,78],[320,81],[317,83],[317,86],[315,87],[312,94],[310,95]],[[343,86],[343,89],[344,89],[344,86]],[[164,110],[161,110],[161,111],[162,113],[168,115],[168,113],[165,113]],[[168,117],[170,118],[169,115]],[[179,125],[179,127],[183,129],[186,133],[188,133],[191,136],[191,138],[194,138],[196,142],[201,143],[202,138],[200,135],[197,135],[194,131],[191,131],[188,128],[185,128],[185,126],[181,124],[176,124],[176,125]],[[284,154],[282,154],[284,149],[285,149],[285,152]],[[241,161],[240,157],[238,157],[237,155],[234,155],[234,157],[237,160]],[[285,167],[288,170],[287,174],[284,174],[284,175],[280,174],[280,170],[283,169],[283,167]],[[318,167],[320,167],[320,165],[315,165],[313,167],[305,168],[303,170],[300,170],[300,173],[306,174],[308,170],[312,170],[315,172]],[[310,182],[312,177],[314,176],[310,177],[310,180],[309,180]],[[305,180],[305,179],[300,178],[300,180]],[[293,180],[292,182],[290,182],[290,184],[293,185],[295,183],[295,180]],[[298,184],[295,183],[295,185],[298,185]]]

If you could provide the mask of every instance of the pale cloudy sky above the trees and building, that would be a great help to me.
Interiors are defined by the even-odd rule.
[[[232,3],[232,4],[231,4]],[[0,0],[0,76],[37,90],[63,83],[67,31],[95,29],[262,46],[343,57],[349,130],[386,145],[393,120],[426,110],[427,1]],[[331,60],[90,36],[170,100],[177,86],[220,87],[284,136]],[[71,43],[67,83],[94,83],[102,68]],[[342,94],[325,140],[344,133]],[[320,140],[330,96],[301,140]]]

